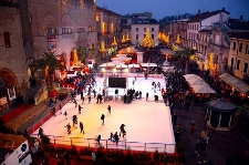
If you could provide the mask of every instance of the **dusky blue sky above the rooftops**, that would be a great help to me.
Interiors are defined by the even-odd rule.
[[[152,12],[159,20],[165,16],[196,14],[198,10],[215,11],[225,8],[231,18],[249,20],[249,0],[96,0],[98,7],[106,7],[118,14]]]

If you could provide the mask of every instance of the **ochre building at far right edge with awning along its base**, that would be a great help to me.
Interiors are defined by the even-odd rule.
[[[249,92],[249,33],[232,33],[229,39],[228,70],[219,78],[245,96]]]

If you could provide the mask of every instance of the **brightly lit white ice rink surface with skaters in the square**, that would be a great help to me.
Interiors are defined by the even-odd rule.
[[[175,138],[172,125],[172,117],[169,107],[163,103],[160,91],[152,90],[152,82],[160,82],[160,86],[165,87],[164,79],[137,78],[135,85],[133,85],[134,78],[128,78],[128,87],[142,91],[142,100],[135,100],[131,104],[124,104],[120,99],[117,101],[106,101],[102,104],[96,104],[93,99],[91,103],[87,101],[86,93],[84,93],[85,102],[82,104],[80,95],[76,96],[77,104],[83,106],[81,114],[79,114],[77,106],[74,103],[68,103],[62,107],[62,112],[56,112],[56,116],[51,117],[41,127],[44,134],[49,135],[56,144],[72,144],[82,146],[97,147],[94,140],[101,135],[101,145],[108,148],[127,148],[136,151],[152,151],[156,148],[159,152],[174,153]],[[94,86],[95,91],[101,93],[103,89],[103,78],[96,78],[97,84]],[[108,94],[114,94],[110,90]],[[118,90],[118,94],[124,92]],[[149,101],[146,102],[145,94],[148,92]],[[159,96],[159,102],[154,102],[154,95]],[[107,105],[111,105],[111,113],[107,112]],[[68,120],[63,115],[68,112]],[[62,113],[62,114],[61,114]],[[102,125],[101,115],[105,115],[105,123]],[[72,116],[77,116],[77,124],[82,122],[85,134],[80,134],[80,127],[73,126]],[[70,123],[72,133],[68,134],[65,125]],[[121,124],[125,124],[126,136],[120,138],[118,145],[107,141],[111,132],[120,133]],[[34,132],[34,133],[38,133]]]

